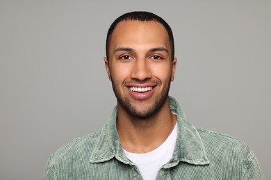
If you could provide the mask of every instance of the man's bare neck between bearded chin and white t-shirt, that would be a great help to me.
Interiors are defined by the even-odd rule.
[[[136,118],[122,107],[118,109],[117,132],[124,150],[146,153],[161,145],[174,129],[176,116],[170,111],[169,98],[164,105],[149,118]]]

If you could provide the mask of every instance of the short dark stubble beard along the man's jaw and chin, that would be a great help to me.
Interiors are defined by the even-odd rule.
[[[158,98],[156,98],[156,100],[154,100],[151,107],[148,107],[144,111],[139,111],[136,106],[133,106],[131,104],[129,98],[122,97],[120,95],[120,91],[119,89],[117,89],[117,84],[115,84],[112,78],[111,78],[111,82],[112,82],[113,91],[117,98],[117,102],[120,103],[120,105],[126,110],[126,112],[130,114],[131,116],[135,116],[136,118],[145,119],[145,118],[154,116],[154,114],[156,114],[156,112],[158,112],[161,109],[161,107],[165,104],[165,100],[167,99],[168,93],[170,91],[171,80],[167,81],[167,83],[165,84],[165,87],[163,87],[162,89],[162,93],[158,95]],[[161,84],[160,80],[156,80],[155,82],[157,84]],[[124,84],[129,84],[129,82],[123,82],[122,87],[124,87]]]

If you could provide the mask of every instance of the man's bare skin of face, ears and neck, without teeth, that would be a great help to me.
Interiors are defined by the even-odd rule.
[[[176,124],[168,91],[174,80],[167,31],[156,21],[121,21],[111,36],[108,78],[117,97],[117,132],[125,150],[145,153],[156,149]],[[152,87],[135,93],[130,87]]]

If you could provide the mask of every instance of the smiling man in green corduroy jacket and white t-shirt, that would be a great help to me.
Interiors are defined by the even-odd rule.
[[[265,179],[247,145],[196,129],[168,96],[176,58],[161,17],[117,18],[104,62],[117,98],[110,120],[54,152],[43,179]]]

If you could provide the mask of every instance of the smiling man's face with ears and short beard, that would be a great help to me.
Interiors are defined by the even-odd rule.
[[[121,21],[111,35],[106,71],[120,110],[147,118],[165,106],[176,58],[156,21]]]

